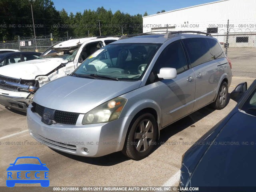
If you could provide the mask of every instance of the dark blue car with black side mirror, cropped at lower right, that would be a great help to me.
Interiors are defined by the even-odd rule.
[[[231,92],[230,98],[240,100],[236,107],[183,155],[180,187],[225,192],[247,187],[255,191],[256,80],[246,89],[245,82]]]

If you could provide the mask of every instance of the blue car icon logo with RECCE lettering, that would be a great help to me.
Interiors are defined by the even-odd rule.
[[[17,161],[27,162],[28,160],[36,161],[35,164],[23,163],[19,164]],[[10,164],[10,167],[6,169],[7,179],[6,186],[14,187],[16,183],[22,184],[35,184],[40,183],[42,187],[48,187],[50,180],[48,178],[49,169],[46,164],[43,164],[38,157],[18,157],[14,163]]]

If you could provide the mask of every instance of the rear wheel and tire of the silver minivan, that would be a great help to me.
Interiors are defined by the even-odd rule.
[[[216,100],[211,104],[211,107],[217,110],[223,109],[228,103],[228,84],[223,81],[220,84]]]

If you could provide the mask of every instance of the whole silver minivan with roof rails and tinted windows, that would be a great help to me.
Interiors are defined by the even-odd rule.
[[[140,160],[162,128],[208,104],[224,108],[231,80],[211,36],[124,36],[40,88],[28,108],[28,128],[36,140],[66,153],[97,157],[122,150]]]

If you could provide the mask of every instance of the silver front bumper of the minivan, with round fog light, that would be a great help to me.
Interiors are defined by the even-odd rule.
[[[41,117],[27,110],[30,135],[46,146],[79,156],[99,157],[122,150],[133,116],[108,123],[89,125],[47,125]]]

